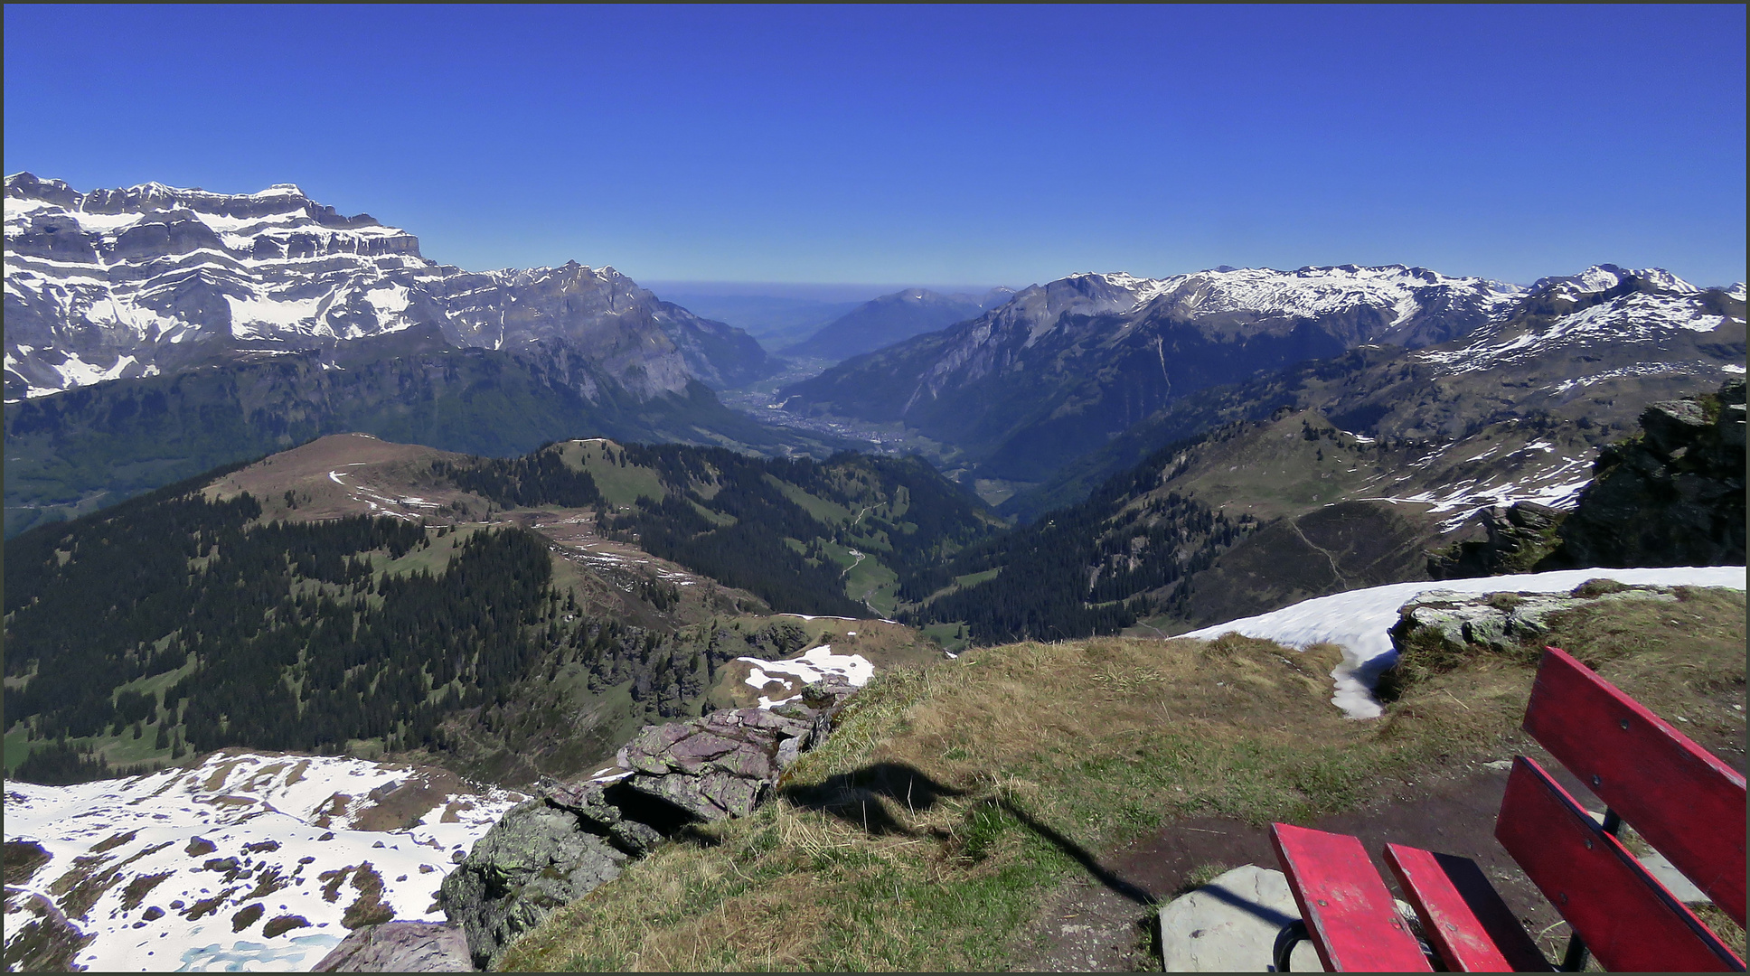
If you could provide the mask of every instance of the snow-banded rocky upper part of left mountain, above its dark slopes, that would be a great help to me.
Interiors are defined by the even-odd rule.
[[[220,194],[74,191],[5,178],[5,397],[152,376],[222,355],[401,336],[452,348],[562,345],[640,397],[721,387],[765,353],[612,268],[472,273],[296,185]],[[593,397],[592,397],[593,399]]]

